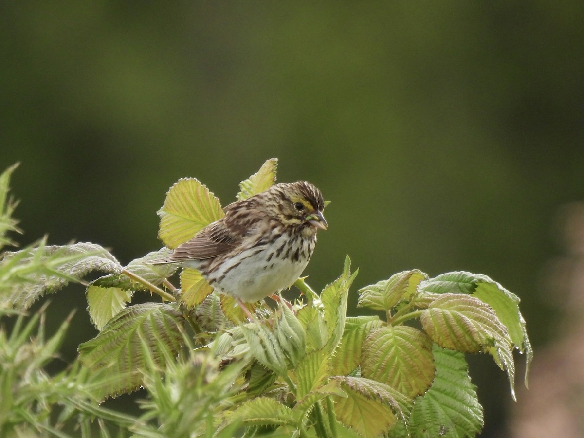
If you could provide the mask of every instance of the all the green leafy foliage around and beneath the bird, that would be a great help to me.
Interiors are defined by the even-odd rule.
[[[237,199],[276,179],[270,159],[240,185]],[[19,231],[8,197],[12,166],[0,176],[0,249]],[[96,244],[45,239],[0,261],[0,436],[473,436],[482,406],[464,353],[488,353],[507,373],[515,399],[513,350],[532,351],[519,298],[481,274],[429,278],[413,269],[361,288],[347,317],[356,277],[347,257],[320,294],[298,279],[304,298],[272,309],[256,303],[248,322],[233,298],[217,294],[193,269],[148,262],[168,255],[222,217],[220,201],[194,178],[166,195],[159,251],[122,266]],[[86,288],[98,336],[56,376],[45,371],[68,321],[50,337],[37,300],[91,272]],[[130,304],[137,293],[151,303]],[[4,322],[11,319],[11,329]],[[416,320],[417,324],[406,322]],[[100,401],[143,387],[142,415]]]

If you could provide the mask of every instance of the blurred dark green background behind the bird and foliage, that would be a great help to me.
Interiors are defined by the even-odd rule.
[[[484,273],[522,298],[536,363],[553,342],[561,315],[544,267],[561,251],[559,207],[584,199],[582,1],[0,11],[0,165],[22,162],[23,245],[48,233],[127,263],[161,246],[155,212],[177,179],[196,176],[227,205],[278,157],[280,181],[308,179],[332,201],[312,286],[338,276],[346,253],[360,267],[350,308],[357,288],[400,270]],[[82,287],[50,310],[58,322],[71,307],[65,360],[95,335]],[[501,436],[506,376],[470,360],[483,436]]]

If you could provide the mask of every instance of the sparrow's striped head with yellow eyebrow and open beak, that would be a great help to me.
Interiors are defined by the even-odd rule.
[[[328,225],[322,210],[322,193],[308,181],[276,184],[268,190],[276,199],[276,215],[283,224],[290,226],[320,228]]]

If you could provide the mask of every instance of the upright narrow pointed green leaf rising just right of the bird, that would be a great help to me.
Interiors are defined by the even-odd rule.
[[[351,274],[351,260],[345,257],[343,273],[340,277],[326,286],[321,293],[321,301],[324,305],[324,321],[328,333],[326,343],[329,352],[334,352],[339,345],[340,338],[345,330],[345,318],[347,313],[347,297],[349,287],[357,276],[359,269]]]

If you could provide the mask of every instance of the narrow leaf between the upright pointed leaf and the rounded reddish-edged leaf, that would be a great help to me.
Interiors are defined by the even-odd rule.
[[[350,317],[345,321],[345,331],[332,357],[332,374],[345,376],[361,363],[361,349],[369,333],[383,323],[378,317]]]

